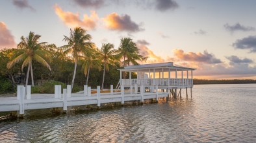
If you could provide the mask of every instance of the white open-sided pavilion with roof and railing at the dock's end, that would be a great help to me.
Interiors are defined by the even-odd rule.
[[[193,87],[193,71],[196,69],[174,66],[173,62],[152,63],[146,65],[130,65],[120,70],[120,85],[144,85],[152,87],[158,85],[159,89],[187,89]],[[129,72],[129,79],[123,79],[123,72]],[[137,78],[131,78],[131,72],[136,72]],[[179,76],[179,78],[178,78]]]

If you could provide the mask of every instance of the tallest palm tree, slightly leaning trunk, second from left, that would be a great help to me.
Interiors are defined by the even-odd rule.
[[[90,34],[86,34],[86,30],[81,27],[76,27],[74,30],[70,29],[70,37],[64,36],[63,41],[68,42],[68,45],[64,45],[60,48],[64,49],[64,54],[72,56],[75,60],[75,68],[73,79],[71,83],[71,91],[73,89],[73,84],[75,81],[75,73],[77,71],[77,60],[83,57],[83,51],[86,48],[92,48],[94,43],[90,42],[92,36]]]

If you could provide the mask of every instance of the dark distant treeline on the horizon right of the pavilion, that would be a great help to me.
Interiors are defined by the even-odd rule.
[[[194,79],[194,84],[248,84],[248,83],[256,83],[256,80],[201,80]]]

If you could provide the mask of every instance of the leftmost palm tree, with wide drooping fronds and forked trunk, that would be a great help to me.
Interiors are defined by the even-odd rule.
[[[40,35],[35,35],[34,32],[29,32],[29,36],[24,38],[21,36],[21,42],[18,44],[18,49],[10,52],[8,57],[10,61],[7,63],[7,68],[12,68],[16,63],[23,61],[21,66],[21,71],[27,65],[27,79],[26,79],[26,87],[29,80],[29,72],[31,71],[31,81],[32,86],[34,86],[34,78],[33,78],[33,71],[32,71],[32,60],[36,60],[39,63],[42,63],[45,67],[47,67],[51,71],[51,67],[49,62],[51,61],[49,52],[43,49],[46,42],[38,43],[38,39]]]

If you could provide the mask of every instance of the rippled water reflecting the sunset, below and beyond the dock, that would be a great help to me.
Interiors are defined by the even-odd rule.
[[[0,117],[0,142],[255,142],[256,84],[194,85],[192,98]],[[38,115],[38,113],[40,113]]]

